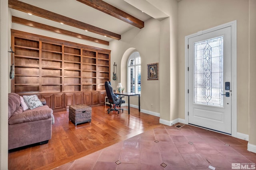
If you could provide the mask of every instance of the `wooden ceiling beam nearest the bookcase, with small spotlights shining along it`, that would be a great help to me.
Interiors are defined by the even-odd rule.
[[[79,33],[74,33],[74,32],[71,32],[71,31],[67,31],[65,29],[52,27],[50,25],[45,25],[45,24],[42,24],[42,23],[26,20],[26,19],[23,19],[23,18],[15,17],[15,16],[12,16],[12,22],[19,23],[19,24],[26,25],[26,26],[30,26],[30,27],[34,27],[34,28],[43,29],[43,30],[46,30],[46,31],[51,31],[51,32],[54,32],[54,33],[59,33],[59,34],[68,35],[68,36],[71,36],[71,37],[84,39],[84,40],[87,40],[87,41],[92,41],[94,43],[109,45],[108,41],[104,41],[104,40],[101,40],[101,39],[89,37],[89,36],[82,35],[82,34],[79,34]]]

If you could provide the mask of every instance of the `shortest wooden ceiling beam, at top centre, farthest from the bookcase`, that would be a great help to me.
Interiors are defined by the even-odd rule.
[[[138,18],[135,18],[134,16],[131,16],[130,14],[127,14],[126,12],[102,0],[77,0],[77,1],[82,2],[83,4],[86,4],[92,8],[95,8],[96,10],[100,10],[110,16],[113,16],[119,20],[122,20],[140,29],[144,27],[143,21],[139,20]]]

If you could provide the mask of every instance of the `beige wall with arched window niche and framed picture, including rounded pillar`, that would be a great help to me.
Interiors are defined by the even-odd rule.
[[[162,21],[150,19],[144,28],[134,28],[122,34],[121,40],[110,42],[111,65],[114,62],[120,65],[117,80],[112,80],[111,84],[114,87],[118,82],[126,84],[128,55],[133,49],[138,51],[142,62],[141,109],[160,113],[160,119],[172,121],[178,118],[178,2],[161,2],[155,5],[169,18]],[[147,64],[150,63],[159,63],[159,80],[147,80]],[[138,99],[131,98],[131,104],[138,105]]]

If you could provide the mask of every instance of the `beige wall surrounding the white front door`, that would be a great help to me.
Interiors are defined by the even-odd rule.
[[[237,132],[248,135],[249,0],[182,0],[178,3],[179,118],[185,118],[184,37],[237,20]]]

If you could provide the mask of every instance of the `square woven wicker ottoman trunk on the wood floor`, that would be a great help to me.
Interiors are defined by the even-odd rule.
[[[86,106],[85,104],[69,106],[68,117],[75,125],[78,123],[91,122],[92,107]]]

